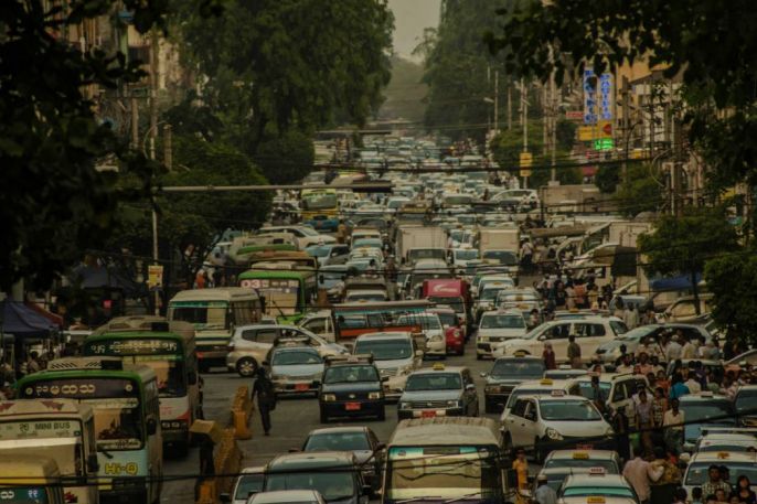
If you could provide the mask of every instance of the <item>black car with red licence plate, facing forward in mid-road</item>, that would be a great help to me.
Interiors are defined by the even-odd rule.
[[[382,380],[373,357],[327,357],[318,394],[321,423],[335,417],[376,417],[384,420]]]

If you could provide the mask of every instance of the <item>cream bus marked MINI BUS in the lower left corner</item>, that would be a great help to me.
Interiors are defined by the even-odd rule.
[[[63,483],[71,502],[98,502],[95,425],[87,405],[68,399],[0,401],[0,460],[17,468],[0,471],[0,479],[8,478],[0,486],[19,485],[12,498],[8,489],[0,489],[0,502],[44,502],[44,483],[52,479],[55,485]],[[43,461],[53,462],[54,469]]]

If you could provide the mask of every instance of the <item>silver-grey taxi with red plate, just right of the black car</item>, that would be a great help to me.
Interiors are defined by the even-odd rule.
[[[447,367],[441,363],[416,371],[407,377],[405,392],[397,403],[397,417],[477,417],[478,392],[467,367]]]

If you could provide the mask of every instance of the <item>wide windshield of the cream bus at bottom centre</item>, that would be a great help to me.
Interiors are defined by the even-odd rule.
[[[495,455],[477,447],[392,447],[386,496],[491,498],[500,475]]]

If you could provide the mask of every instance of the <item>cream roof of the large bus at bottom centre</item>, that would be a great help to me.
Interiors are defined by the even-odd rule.
[[[390,447],[500,446],[500,431],[490,418],[436,417],[402,420]]]

